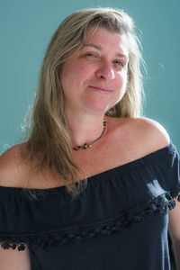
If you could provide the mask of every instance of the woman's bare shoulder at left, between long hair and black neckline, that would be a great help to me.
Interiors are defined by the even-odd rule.
[[[14,145],[0,156],[0,186],[30,189],[58,186],[59,179],[49,166],[45,164],[37,171],[34,162],[24,159],[25,147],[25,143]]]

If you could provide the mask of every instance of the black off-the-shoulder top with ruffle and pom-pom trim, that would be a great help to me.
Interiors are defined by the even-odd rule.
[[[27,244],[32,270],[169,270],[168,211],[180,202],[179,157],[171,142],[88,178],[76,200],[64,186],[0,187],[0,242]]]

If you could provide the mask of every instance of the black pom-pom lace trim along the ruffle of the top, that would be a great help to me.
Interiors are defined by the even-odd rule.
[[[4,249],[17,248],[19,251],[25,249],[25,247],[46,248],[55,245],[60,247],[67,246],[69,244],[81,243],[87,239],[105,237],[112,233],[117,233],[121,229],[130,227],[131,224],[141,222],[144,217],[161,212],[166,212],[166,207],[170,210],[175,208],[175,200],[180,202],[180,188],[175,188],[171,192],[166,192],[159,195],[157,198],[152,198],[148,202],[145,202],[139,207],[130,211],[120,213],[112,219],[95,222],[93,224],[87,224],[78,226],[71,229],[53,230],[47,233],[31,234],[29,236],[4,236],[0,237],[1,247]]]

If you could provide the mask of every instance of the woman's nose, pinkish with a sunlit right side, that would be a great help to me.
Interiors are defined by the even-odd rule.
[[[97,68],[95,75],[103,79],[114,79],[114,70],[112,65],[108,63],[101,63],[101,66]]]

